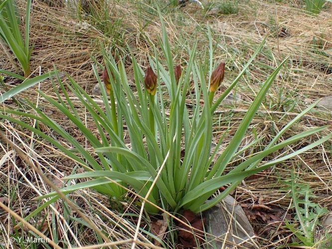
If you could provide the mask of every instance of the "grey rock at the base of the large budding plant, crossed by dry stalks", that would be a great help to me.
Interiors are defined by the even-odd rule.
[[[255,233],[246,215],[230,195],[203,215],[207,222],[207,232],[218,237],[208,237],[205,248],[258,248],[253,239]]]

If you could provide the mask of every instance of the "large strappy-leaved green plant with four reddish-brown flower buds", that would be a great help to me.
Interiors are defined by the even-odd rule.
[[[316,102],[283,127],[264,149],[242,161],[235,160],[239,151],[250,149],[250,146],[254,146],[257,142],[240,148],[242,139],[248,132],[248,126],[259,110],[272,82],[281,68],[286,66],[287,59],[285,59],[262,84],[227,147],[222,150],[218,159],[214,160],[222,143],[221,139],[212,149],[214,113],[244,72],[249,70],[251,62],[264,46],[265,40],[238,76],[229,82],[229,87],[217,97],[216,92],[223,84],[222,80],[227,71],[225,63],[213,59],[214,49],[210,32],[209,37],[208,67],[202,66],[201,61],[196,58],[197,43],[191,48],[186,65],[182,68],[175,67],[163,26],[161,47],[166,62],[162,63],[155,56],[150,58],[149,65],[143,68],[132,56],[134,73],[132,81],[127,78],[123,61],[119,59],[115,62],[110,54],[103,51],[105,67],[99,68],[101,66],[93,65],[93,69],[102,89],[105,111],[70,76],[68,76],[70,84],[66,87],[59,80],[63,93],[59,93],[55,88],[58,100],[40,92],[45,100],[80,129],[93,147],[93,152],[87,150],[85,145],[76,141],[69,131],[33,104],[30,105],[35,115],[6,109],[6,114],[1,114],[0,117],[34,131],[85,168],[86,172],[73,173],[65,178],[76,181],[76,184],[70,184],[62,189],[65,194],[84,188],[94,188],[119,201],[125,198],[126,190],[131,189],[141,197],[147,196],[148,202],[144,207],[149,213],[159,211],[154,205],[171,212],[183,209],[196,213],[205,211],[220,202],[245,177],[310,150],[332,137],[332,134],[320,135],[320,132],[326,128],[323,126],[308,128],[288,139],[280,139],[292,125],[315,107]],[[104,72],[105,87],[99,77],[101,71]],[[230,80],[229,77],[226,78],[227,81]],[[194,84],[194,92],[187,95],[188,91],[191,91],[191,82]],[[136,89],[133,91],[134,87]],[[79,117],[66,89],[75,94],[90,113],[95,128],[99,131],[99,137],[88,129],[84,120]],[[45,124],[67,142],[64,144],[55,140],[39,129],[24,123],[17,118],[18,116]],[[291,151],[289,153],[283,152],[284,147],[292,146],[297,141],[314,134],[321,138],[301,149],[294,148],[287,150]],[[74,153],[72,148],[77,152]],[[182,151],[184,155],[181,155]],[[266,159],[271,153],[276,155],[277,152],[279,152],[277,158]],[[265,160],[262,162],[263,159]],[[235,167],[225,173],[227,165],[232,163],[234,166],[235,161],[238,162]],[[77,181],[80,178],[86,178],[86,181]],[[225,190],[215,195],[221,186],[226,186]],[[59,196],[56,192],[51,192],[38,198],[47,201],[25,219],[40,212]]]

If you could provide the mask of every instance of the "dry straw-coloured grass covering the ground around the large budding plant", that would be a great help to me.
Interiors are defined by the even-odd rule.
[[[22,1],[19,1],[22,3]],[[156,3],[154,3],[156,4]],[[251,153],[258,150],[259,145],[267,144],[276,130],[281,129],[305,106],[319,97],[332,95],[332,17],[330,10],[326,9],[318,17],[304,14],[296,1],[278,3],[275,1],[240,1],[238,13],[232,15],[210,15],[199,6],[189,3],[183,8],[173,9],[160,1],[163,16],[167,22],[168,34],[173,47],[173,55],[177,62],[187,59],[187,45],[195,39],[199,41],[199,50],[204,52],[208,47],[207,23],[211,25],[216,45],[216,62],[226,61],[224,84],[231,83],[234,76],[242,68],[246,60],[252,55],[260,41],[267,35],[266,46],[263,53],[250,66],[250,71],[241,80],[236,92],[241,101],[221,105],[215,115],[214,142],[217,143],[222,132],[229,129],[229,136],[223,146],[229,142],[234,134],[237,124],[241,121],[249,104],[257,93],[261,82],[272,72],[273,68],[286,56],[290,57],[287,69],[283,69],[276,79],[269,96],[262,105],[260,112],[250,125],[244,144],[261,137],[262,140]],[[153,54],[151,44],[158,44],[160,34],[159,17],[152,7],[144,2],[139,7],[133,1],[112,1],[109,6],[112,21],[121,17],[121,25],[116,26],[119,39],[116,40],[112,51],[118,54],[125,53],[125,44],[134,50],[137,61],[145,66],[148,56]],[[84,17],[85,18],[85,17]],[[95,56],[101,62],[101,42],[110,47],[112,37],[104,33],[100,26],[89,25],[79,20],[73,10],[61,7],[47,7],[45,3],[35,0],[31,16],[31,42],[34,50],[31,60],[31,70],[35,74],[53,69],[53,65],[60,71],[66,71],[89,93],[97,83],[92,68],[90,56]],[[281,34],[280,32],[284,34]],[[313,38],[320,47],[313,45]],[[218,44],[217,44],[218,42]],[[202,58],[203,59],[203,58]],[[0,51],[0,68],[13,71],[3,51]],[[131,65],[126,65],[128,75],[131,75]],[[7,81],[11,87],[12,81]],[[38,87],[38,86],[37,86]],[[51,83],[45,81],[39,86],[49,96],[55,96]],[[2,88],[0,88],[3,91]],[[221,89],[222,91],[222,89]],[[82,144],[89,148],[85,137],[68,120],[64,119],[59,111],[39,98],[34,89],[25,91],[22,97],[37,103],[44,111],[54,118],[67,131],[75,134]],[[96,97],[98,100],[98,97]],[[96,130],[93,120],[79,101],[73,101],[82,120],[92,130]],[[6,103],[8,107],[17,108],[15,103]],[[30,110],[26,110],[30,112]],[[34,121],[26,121],[34,124]],[[305,130],[308,127],[332,124],[332,114],[329,110],[318,110],[306,116],[294,129],[284,134],[282,139]],[[30,158],[36,167],[52,179],[57,187],[61,187],[62,176],[73,171],[81,170],[80,165],[60,153],[52,145],[40,140],[35,134],[21,130],[7,121],[0,121],[1,130],[15,142]],[[40,128],[54,137],[55,134],[46,127]],[[330,128],[330,131],[332,129]],[[252,132],[251,132],[252,131]],[[57,139],[61,139],[56,137]],[[312,139],[317,139],[313,137]],[[62,141],[65,142],[65,141]],[[310,143],[310,139],[303,140],[299,146]],[[299,179],[309,183],[318,198],[315,200],[322,206],[332,210],[332,143],[327,142],[310,152],[301,154],[291,160],[273,167],[268,172],[259,174],[256,178],[248,179],[239,186],[233,195],[241,204],[257,204],[258,202],[274,208],[285,210],[293,215],[289,209],[291,199],[285,191],[281,180],[290,177],[292,172],[299,175]],[[8,198],[9,208],[21,217],[25,217],[37,206],[41,205],[33,200],[34,197],[50,191],[50,187],[29,165],[22,161],[17,153],[5,143],[0,144],[0,198]],[[287,151],[292,148],[288,147]],[[249,156],[244,153],[236,160],[240,161]],[[231,167],[233,165],[229,165]],[[134,238],[137,216],[139,210],[133,202],[123,203],[124,210],[114,210],[112,203],[98,193],[90,190],[76,191],[70,195],[71,200],[77,204],[93,222],[105,231],[111,242],[123,241],[119,247],[130,248]],[[69,219],[75,217],[75,220]],[[43,221],[45,219],[45,222]],[[13,230],[13,220],[0,212],[0,243],[4,242]],[[52,224],[53,222],[53,224]],[[44,213],[29,223],[42,232],[51,233],[50,238],[58,237],[62,240],[61,247],[68,247],[76,243],[77,247],[100,244],[102,241],[97,234],[82,225],[83,221],[71,210],[65,202],[59,201],[52,207],[46,208]],[[143,216],[141,230],[137,242],[145,243],[145,247],[153,248],[151,237],[147,239],[145,231],[149,231],[150,217]],[[282,229],[281,222],[277,224],[260,224],[253,221],[258,235],[260,248],[285,245],[291,242],[291,234]],[[266,233],[266,228],[269,228]],[[18,231],[25,235],[27,230]],[[167,232],[166,243],[173,245],[171,232]],[[166,239],[165,239],[166,240]],[[6,245],[7,246],[7,245]],[[6,247],[5,246],[5,247]],[[144,247],[140,245],[137,247]]]

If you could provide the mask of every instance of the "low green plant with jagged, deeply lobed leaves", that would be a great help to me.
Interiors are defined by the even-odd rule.
[[[289,246],[307,246],[314,247],[315,231],[319,224],[319,218],[329,213],[327,208],[322,208],[319,204],[311,201],[316,196],[313,194],[309,184],[299,183],[293,174],[287,184],[286,191],[290,190],[292,197],[292,207],[295,209],[296,223],[289,223],[286,221],[286,228],[288,228],[296,236],[300,242],[293,242]]]

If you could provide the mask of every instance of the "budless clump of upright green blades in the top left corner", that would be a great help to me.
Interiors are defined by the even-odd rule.
[[[17,6],[15,0],[0,0],[0,45],[4,51],[1,39],[10,48],[16,59],[18,60],[24,76],[28,77],[30,74],[30,55],[32,49],[29,47],[29,27],[30,27],[30,8],[31,0],[27,0],[26,14],[25,14],[25,40],[22,38],[20,32],[20,22],[17,17]],[[8,58],[11,60],[10,55]],[[16,63],[11,60],[13,66]]]

